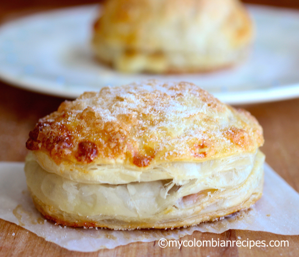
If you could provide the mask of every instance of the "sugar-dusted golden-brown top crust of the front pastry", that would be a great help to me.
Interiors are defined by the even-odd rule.
[[[39,120],[26,147],[56,163],[135,167],[255,152],[256,119],[187,82],[148,81],[86,92]]]

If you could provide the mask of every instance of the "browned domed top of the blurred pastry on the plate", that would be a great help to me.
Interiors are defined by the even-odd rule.
[[[239,0],[108,0],[94,32],[109,45],[157,53],[238,48],[253,37]]]

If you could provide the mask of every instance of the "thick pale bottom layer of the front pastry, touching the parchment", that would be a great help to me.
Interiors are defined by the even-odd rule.
[[[258,151],[248,170],[224,169],[180,184],[172,180],[86,184],[49,173],[33,158],[27,159],[25,173],[38,210],[60,224],[169,228],[195,225],[250,207],[262,194],[263,163],[264,155]]]

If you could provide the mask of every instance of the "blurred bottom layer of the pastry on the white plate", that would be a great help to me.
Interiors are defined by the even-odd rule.
[[[99,61],[126,73],[206,73],[241,64],[251,45],[241,49],[206,52],[146,52],[130,51],[107,44],[101,36],[93,38],[93,51]]]

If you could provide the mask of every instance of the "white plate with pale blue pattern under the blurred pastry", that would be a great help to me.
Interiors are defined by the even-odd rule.
[[[90,50],[98,5],[65,8],[0,27],[0,78],[28,90],[75,98],[84,91],[148,78],[190,81],[230,104],[299,97],[299,12],[249,5],[257,26],[252,56],[231,70],[198,75],[128,75]]]

